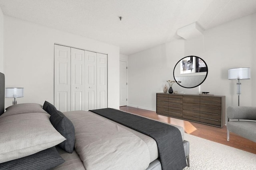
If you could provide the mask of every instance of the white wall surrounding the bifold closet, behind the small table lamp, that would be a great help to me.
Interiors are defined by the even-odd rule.
[[[24,87],[18,103],[54,102],[54,43],[108,54],[108,107],[118,109],[119,47],[4,16],[6,87]]]

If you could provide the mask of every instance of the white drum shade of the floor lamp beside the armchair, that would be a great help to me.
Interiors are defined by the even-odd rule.
[[[238,79],[245,80],[250,78],[251,78],[251,73],[250,73],[250,68],[248,67],[228,69],[229,80],[238,80]]]

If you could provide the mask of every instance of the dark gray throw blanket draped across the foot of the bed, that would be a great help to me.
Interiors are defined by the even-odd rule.
[[[158,146],[162,170],[182,170],[187,166],[178,128],[111,108],[90,111],[152,137]]]

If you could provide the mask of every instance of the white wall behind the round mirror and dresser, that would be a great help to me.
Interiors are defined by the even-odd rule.
[[[204,31],[191,40],[176,40],[128,57],[128,105],[156,110],[156,93],[166,80],[174,80],[175,64],[188,55],[206,61],[208,76],[199,87],[186,89],[174,84],[179,93],[207,91],[226,96],[226,107],[237,106],[236,81],[228,80],[228,69],[250,67],[251,79],[241,80],[240,106],[256,106],[256,14]]]

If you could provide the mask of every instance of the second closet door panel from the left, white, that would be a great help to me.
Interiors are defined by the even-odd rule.
[[[84,50],[71,48],[71,111],[84,110]]]

